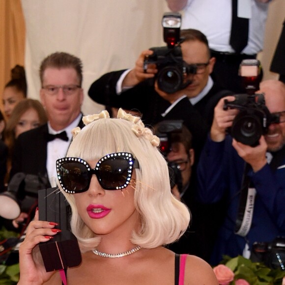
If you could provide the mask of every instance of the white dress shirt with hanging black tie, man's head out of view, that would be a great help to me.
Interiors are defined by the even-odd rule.
[[[268,3],[250,1],[248,45],[241,52],[254,55],[263,48]],[[229,45],[231,27],[231,0],[188,0],[183,9],[182,29],[195,28],[205,34],[211,49],[219,52],[234,50]]]

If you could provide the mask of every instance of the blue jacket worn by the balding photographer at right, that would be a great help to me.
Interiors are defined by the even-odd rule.
[[[251,250],[256,241],[271,242],[285,235],[285,158],[277,170],[272,171],[266,164],[256,173],[248,173],[256,188],[252,226],[246,237],[234,233],[245,162],[231,143],[229,135],[223,142],[208,137],[198,163],[199,199],[203,203],[226,199],[226,216],[212,253],[212,265],[218,264],[223,255],[242,255],[246,241]]]

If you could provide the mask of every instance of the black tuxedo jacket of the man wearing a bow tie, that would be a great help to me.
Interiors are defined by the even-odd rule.
[[[82,119],[78,125],[84,127]],[[21,134],[15,143],[10,179],[17,172],[48,178],[47,161],[48,124]],[[50,187],[50,185],[49,185]]]

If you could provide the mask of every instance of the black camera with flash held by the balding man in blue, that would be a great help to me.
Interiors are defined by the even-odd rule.
[[[270,114],[265,106],[263,94],[255,94],[258,90],[258,74],[260,63],[257,59],[245,59],[240,65],[247,94],[235,94],[235,101],[225,99],[224,110],[238,109],[228,133],[238,142],[250,146],[258,145],[260,137],[267,133],[271,123],[278,123],[279,118]]]

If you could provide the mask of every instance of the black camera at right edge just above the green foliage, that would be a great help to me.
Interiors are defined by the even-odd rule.
[[[273,269],[285,270],[285,237],[277,236],[271,243],[255,242],[250,259]]]

